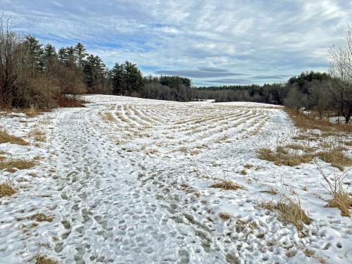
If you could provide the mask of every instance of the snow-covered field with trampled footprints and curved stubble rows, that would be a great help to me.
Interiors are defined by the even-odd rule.
[[[36,253],[58,263],[351,263],[351,217],[324,207],[317,165],[257,158],[294,130],[281,108],[85,100],[35,118],[0,115],[0,127],[31,143],[0,144],[0,153],[41,157],[29,170],[0,170],[18,190],[0,198],[0,263],[33,263]],[[27,138],[33,129],[46,141]],[[217,180],[245,188],[210,187]],[[312,219],[303,232],[258,206],[282,194],[299,197]],[[36,213],[53,220],[31,220]]]

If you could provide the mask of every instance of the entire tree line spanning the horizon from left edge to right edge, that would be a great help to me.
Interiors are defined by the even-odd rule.
[[[329,49],[329,73],[305,72],[286,83],[191,86],[179,76],[144,77],[130,61],[106,67],[82,43],[56,49],[11,30],[11,18],[0,18],[0,108],[54,108],[79,105],[80,94],[115,94],[147,99],[253,101],[295,108],[296,111],[352,115],[352,27],[346,44]]]

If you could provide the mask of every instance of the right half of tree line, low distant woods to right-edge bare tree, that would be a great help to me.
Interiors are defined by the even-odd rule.
[[[297,112],[316,111],[324,115],[352,116],[352,27],[348,26],[346,41],[329,49],[328,73],[313,71],[291,77],[286,83],[199,87],[198,99],[215,101],[253,101],[294,108]]]

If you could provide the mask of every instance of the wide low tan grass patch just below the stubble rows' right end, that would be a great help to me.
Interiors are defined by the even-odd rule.
[[[308,153],[291,153],[282,146],[278,146],[276,151],[271,149],[259,149],[258,158],[265,161],[272,161],[275,165],[296,166],[301,163],[309,163],[314,156]]]

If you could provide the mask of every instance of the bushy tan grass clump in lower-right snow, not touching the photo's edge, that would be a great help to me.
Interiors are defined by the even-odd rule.
[[[291,222],[297,230],[303,229],[303,224],[310,225],[310,218],[301,207],[299,199],[283,197],[275,206],[280,212],[280,219],[284,222]]]

